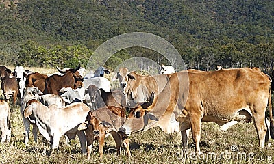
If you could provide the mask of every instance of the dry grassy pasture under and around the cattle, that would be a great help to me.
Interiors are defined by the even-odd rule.
[[[56,72],[55,69],[34,71],[45,74]],[[132,134],[129,143],[132,152],[130,158],[124,147],[120,156],[116,154],[112,137],[105,140],[102,159],[99,158],[98,144],[95,142],[90,161],[87,161],[86,156],[81,154],[78,138],[71,141],[70,146],[66,146],[62,137],[58,151],[50,154],[50,145],[40,134],[38,143],[34,143],[31,134],[29,146],[25,146],[20,105],[11,105],[10,109],[12,138],[10,143],[0,143],[0,163],[274,163],[274,148],[260,150],[253,123],[245,122],[240,122],[225,132],[221,132],[217,124],[203,122],[200,159],[193,156],[195,146],[191,135],[188,148],[182,149],[180,133],[168,135],[160,128]],[[273,140],[270,143],[274,146]]]

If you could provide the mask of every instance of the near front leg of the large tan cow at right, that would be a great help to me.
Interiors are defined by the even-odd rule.
[[[201,139],[201,113],[190,114],[190,128],[192,131],[192,139],[195,142],[197,155],[201,154],[200,139]]]

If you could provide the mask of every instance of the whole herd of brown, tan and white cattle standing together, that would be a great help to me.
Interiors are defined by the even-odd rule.
[[[201,153],[201,122],[215,122],[221,131],[242,120],[253,122],[260,148],[268,143],[269,135],[274,138],[271,77],[258,68],[175,72],[172,66],[162,65],[153,76],[120,68],[114,76],[119,89],[111,89],[103,77],[110,72],[101,66],[95,74],[86,75],[80,65],[57,69],[55,74],[40,74],[22,66],[14,72],[0,66],[5,98],[0,100],[1,141],[10,142],[9,104],[16,100],[21,105],[26,146],[30,126],[34,141],[39,130],[51,143],[51,151],[58,149],[62,135],[67,144],[77,135],[87,159],[95,140],[103,156],[108,135],[114,138],[117,152],[123,143],[131,156],[129,135],[153,127],[165,133],[180,131],[183,146],[188,146],[191,130],[197,154]]]

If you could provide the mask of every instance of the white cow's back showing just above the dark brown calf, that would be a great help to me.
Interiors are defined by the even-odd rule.
[[[84,79],[84,89],[86,90],[89,85],[95,85],[98,88],[103,88],[105,92],[110,92],[110,81],[105,77],[92,77]]]

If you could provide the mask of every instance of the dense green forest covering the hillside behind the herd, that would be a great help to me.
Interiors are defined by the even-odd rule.
[[[123,33],[153,33],[170,42],[187,68],[273,70],[274,1],[262,0],[1,0],[1,65],[87,64],[103,42]],[[113,70],[131,57],[169,65],[144,48],[117,52]]]

